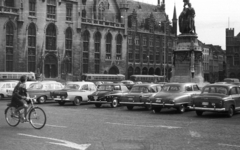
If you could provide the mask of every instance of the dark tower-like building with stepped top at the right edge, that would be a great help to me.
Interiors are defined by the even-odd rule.
[[[235,36],[234,29],[226,29],[227,77],[240,79],[240,33]]]

